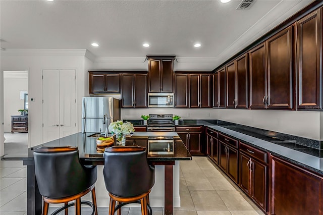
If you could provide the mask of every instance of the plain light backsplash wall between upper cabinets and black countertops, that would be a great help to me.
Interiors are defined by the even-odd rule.
[[[323,112],[161,108],[121,110],[122,119],[139,120],[143,114],[173,114],[179,115],[183,120],[218,119],[309,139],[323,140],[323,131],[321,131],[323,130]]]

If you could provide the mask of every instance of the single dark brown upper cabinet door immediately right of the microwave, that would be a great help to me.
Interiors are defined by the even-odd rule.
[[[175,108],[188,108],[188,75],[175,75]]]

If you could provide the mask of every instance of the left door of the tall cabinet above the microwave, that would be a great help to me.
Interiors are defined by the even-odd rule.
[[[160,92],[160,60],[149,60],[149,92]]]

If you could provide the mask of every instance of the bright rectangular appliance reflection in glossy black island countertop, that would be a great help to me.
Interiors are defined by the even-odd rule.
[[[148,154],[174,154],[174,140],[148,140]]]

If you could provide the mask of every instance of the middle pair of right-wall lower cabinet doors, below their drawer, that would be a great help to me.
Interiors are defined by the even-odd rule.
[[[219,167],[238,183],[238,149],[219,141]]]

